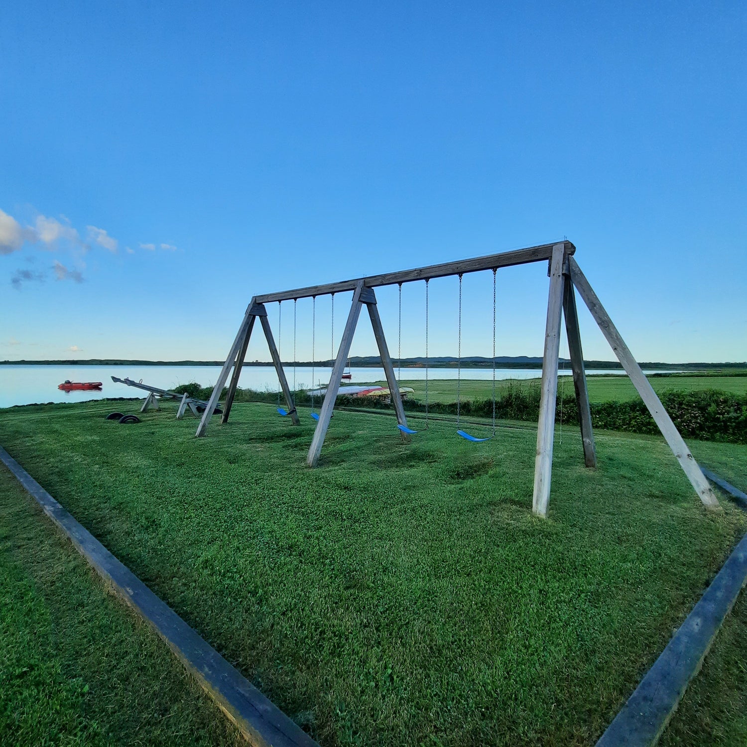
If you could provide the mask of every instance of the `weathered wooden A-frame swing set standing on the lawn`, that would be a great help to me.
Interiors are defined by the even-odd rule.
[[[690,453],[682,436],[672,422],[672,418],[664,409],[661,400],[657,396],[651,383],[648,382],[640,366],[633,358],[632,353],[624,343],[616,326],[610,319],[607,311],[601,305],[597,295],[592,290],[586,276],[581,272],[580,267],[574,259],[576,247],[570,241],[561,241],[556,244],[542,244],[539,247],[527,247],[526,249],[516,249],[512,252],[502,252],[485,257],[464,259],[456,262],[447,262],[444,264],[433,264],[429,267],[417,267],[414,270],[403,270],[395,273],[386,273],[383,275],[373,275],[367,278],[358,278],[353,280],[344,280],[341,282],[329,283],[327,285],[312,285],[309,288],[297,288],[294,291],[281,291],[279,293],[270,293],[258,295],[252,298],[244,319],[241,321],[236,338],[226,356],[226,362],[220,371],[217,382],[208,400],[208,406],[202,414],[202,420],[197,427],[196,436],[205,436],[205,430],[208,427],[210,418],[214,409],[218,406],[220,394],[226,385],[229,373],[233,370],[233,375],[226,395],[226,403],[223,405],[223,414],[221,423],[226,423],[231,414],[231,407],[238,386],[238,379],[241,374],[241,367],[244,365],[244,357],[247,354],[249,338],[252,335],[255,320],[259,320],[267,339],[267,347],[270,349],[270,356],[273,359],[280,389],[285,398],[286,409],[279,408],[281,415],[288,415],[294,425],[300,425],[300,418],[294,403],[294,393],[288,387],[288,380],[285,378],[282,362],[276,347],[270,322],[267,319],[266,303],[282,302],[300,298],[315,299],[317,296],[334,294],[344,291],[353,291],[353,302],[347,316],[342,338],[338,347],[335,363],[332,367],[332,375],[329,378],[329,385],[326,388],[326,394],[318,415],[314,413],[314,420],[317,421],[314,438],[311,440],[309,454],[306,462],[310,467],[315,467],[324,444],[329,421],[332,418],[332,410],[335,406],[335,400],[341,384],[342,374],[344,373],[345,364],[350,354],[350,344],[353,341],[353,333],[362,307],[368,309],[368,316],[371,318],[373,335],[376,338],[376,344],[379,347],[379,356],[381,357],[382,367],[389,391],[391,392],[391,401],[394,404],[394,410],[397,415],[397,426],[404,433],[415,433],[409,429],[405,410],[400,399],[400,390],[397,382],[397,376],[394,373],[394,365],[389,355],[384,329],[382,327],[379,311],[376,309],[376,294],[374,288],[380,288],[384,285],[399,285],[400,294],[403,283],[415,282],[419,280],[429,281],[433,278],[459,276],[459,288],[462,287],[462,275],[466,273],[479,272],[480,270],[492,270],[494,278],[494,350],[493,360],[495,369],[495,273],[501,267],[513,267],[518,264],[529,264],[531,262],[548,261],[550,276],[550,291],[548,295],[548,314],[545,326],[545,350],[542,362],[542,385],[541,399],[539,406],[539,427],[537,430],[537,451],[534,468],[534,493],[532,500],[532,510],[538,515],[545,517],[548,512],[548,503],[550,500],[550,483],[552,475],[553,460],[553,441],[555,433],[555,407],[557,402],[557,383],[558,383],[558,356],[560,353],[560,326],[562,317],[565,317],[565,332],[568,337],[568,350],[571,359],[571,370],[573,373],[574,389],[578,405],[581,440],[583,443],[584,462],[587,467],[596,467],[597,457],[594,444],[594,433],[592,431],[592,416],[589,408],[589,396],[586,390],[586,373],[583,368],[583,352],[581,348],[580,330],[578,326],[578,317],[576,309],[575,291],[578,291],[586,306],[591,311],[596,323],[598,323],[604,337],[607,338],[610,347],[617,356],[622,367],[630,376],[633,385],[641,396],[648,411],[654,418],[667,444],[674,452],[678,462],[688,477],[693,488],[698,493],[701,501],[705,506],[717,509],[719,502],[713,494],[701,468]],[[460,292],[460,310],[461,310],[461,292]],[[314,311],[315,313],[315,311]],[[334,339],[334,335],[333,335]],[[495,374],[494,374],[495,376]],[[313,382],[312,382],[313,383]],[[494,393],[495,409],[495,393]],[[281,412],[282,410],[282,412]],[[495,429],[495,415],[494,415]],[[495,434],[495,430],[494,430]],[[459,435],[462,435],[461,433]],[[481,441],[488,439],[473,438],[465,434],[468,440]]]

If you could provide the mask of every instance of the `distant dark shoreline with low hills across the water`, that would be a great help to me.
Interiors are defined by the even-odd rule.
[[[425,368],[424,358],[402,359],[401,364],[395,360],[398,368]],[[567,359],[560,359],[560,365],[568,365]],[[332,360],[324,361],[285,361],[285,366],[296,365],[298,367],[310,368],[312,365],[320,367],[331,367]],[[49,360],[49,361],[2,361],[0,365],[58,365],[58,366],[222,366],[223,361],[138,361],[138,360],[118,360],[118,359],[85,359],[85,360]],[[247,361],[244,366],[248,367],[269,367],[272,362]],[[457,361],[452,357],[433,358],[428,361],[428,368],[453,368],[456,370]],[[462,359],[462,368],[492,368],[492,358],[469,357]],[[518,356],[510,358],[501,356],[495,361],[497,368],[524,368],[537,369],[542,368],[542,359]],[[661,362],[640,362],[641,368],[655,368],[660,371],[717,371],[717,370],[734,370],[747,369],[747,362],[742,363],[661,363]],[[617,361],[584,361],[586,368],[609,369],[610,371],[622,371],[622,366]],[[366,358],[350,359],[350,368],[380,368],[381,361],[378,356]]]

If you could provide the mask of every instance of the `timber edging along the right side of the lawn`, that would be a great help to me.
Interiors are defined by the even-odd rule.
[[[704,470],[704,474],[728,492],[744,496],[712,472]],[[747,534],[602,734],[597,747],[648,747],[657,743],[746,582]]]

